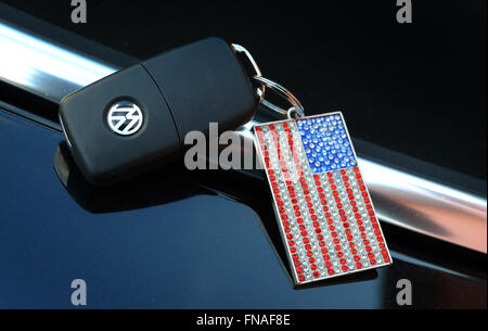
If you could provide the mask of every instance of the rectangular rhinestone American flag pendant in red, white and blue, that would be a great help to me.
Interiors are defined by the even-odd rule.
[[[296,284],[391,264],[342,113],[254,131]]]

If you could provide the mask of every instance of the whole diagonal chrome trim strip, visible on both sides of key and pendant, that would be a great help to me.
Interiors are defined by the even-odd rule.
[[[0,21],[0,79],[9,84],[60,102],[115,71]],[[253,140],[254,124],[237,133]],[[485,198],[365,158],[359,163],[383,221],[487,253]]]

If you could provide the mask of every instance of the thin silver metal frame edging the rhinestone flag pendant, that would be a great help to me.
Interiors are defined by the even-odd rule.
[[[291,122],[291,120],[297,122],[297,120],[300,120],[300,119],[313,118],[313,117],[322,117],[322,116],[330,116],[330,115],[339,115],[341,118],[343,119],[343,124],[344,124],[344,128],[345,128],[345,130],[346,130],[347,138],[348,138],[348,140],[350,141],[352,154],[354,154],[354,156],[355,156],[355,158],[356,158],[356,161],[357,161],[357,160],[358,160],[358,155],[356,154],[356,149],[355,149],[355,145],[352,144],[352,140],[350,139],[349,129],[348,129],[348,127],[347,127],[347,124],[346,124],[346,120],[345,120],[345,118],[344,118],[343,113],[342,113],[342,112],[332,112],[332,113],[324,113],[324,114],[319,114],[319,115],[304,116],[304,117],[300,117],[300,118],[288,118],[288,119],[282,119],[282,120],[267,122],[267,123],[262,123],[262,124],[255,125],[255,126],[253,127],[253,132],[254,132],[254,135],[253,135],[253,136],[254,136],[254,144],[255,144],[256,150],[257,150],[257,152],[258,152],[258,154],[259,154],[259,158],[258,158],[258,160],[259,160],[259,162],[260,162],[262,168],[265,168],[265,157],[264,157],[264,153],[262,153],[262,151],[261,151],[260,143],[259,143],[259,141],[258,141],[258,139],[257,139],[257,135],[256,135],[256,126],[267,126],[267,125],[271,125],[271,124],[286,123],[286,122]],[[299,143],[300,143],[301,147],[304,148],[304,144],[303,144],[303,142],[301,142],[301,139],[299,140]],[[304,164],[305,164],[306,166],[310,167],[308,161],[307,161],[307,162],[304,162]],[[360,165],[357,164],[357,166],[358,166],[359,169],[361,170]],[[345,167],[337,168],[337,169],[334,169],[334,171],[335,171],[335,170],[341,170],[341,169],[344,169],[344,168],[345,168]],[[268,176],[268,175],[266,175],[266,179],[267,179],[268,186],[269,186],[269,188],[270,188],[270,190],[271,190],[271,189],[272,189],[272,186],[271,186],[271,181],[269,180],[269,176]],[[371,198],[371,193],[370,193],[370,191],[369,191],[368,183],[365,183],[364,187],[365,187],[365,191],[368,192],[368,195]],[[341,273],[334,273],[334,275],[332,275],[332,276],[321,277],[321,278],[319,278],[319,279],[317,279],[317,280],[313,280],[313,279],[312,279],[312,280],[301,281],[301,282],[300,282],[300,281],[298,280],[298,275],[297,275],[297,272],[296,272],[296,270],[295,270],[295,268],[294,268],[294,265],[293,265],[293,258],[292,258],[291,252],[290,252],[288,247],[286,246],[286,238],[284,237],[285,231],[284,231],[283,225],[282,225],[282,222],[280,221],[280,218],[279,218],[280,212],[279,212],[279,209],[278,209],[278,205],[277,205],[277,203],[274,202],[274,199],[273,199],[273,198],[272,198],[272,201],[273,201],[274,218],[275,218],[275,220],[277,220],[277,222],[278,222],[278,226],[280,227],[280,237],[281,237],[282,243],[283,243],[283,245],[284,245],[284,249],[285,249],[285,251],[286,251],[286,257],[287,257],[287,260],[288,260],[288,266],[290,266],[290,268],[292,269],[292,272],[293,272],[293,282],[294,282],[294,284],[295,284],[296,287],[301,287],[301,285],[305,285],[305,284],[316,283],[316,282],[321,282],[321,281],[328,281],[328,280],[333,279],[333,278],[343,277],[343,276],[347,276],[347,275],[351,275],[351,273],[358,273],[358,272],[362,272],[362,271],[367,271],[367,270],[378,269],[378,268],[383,268],[383,267],[390,266],[390,265],[393,264],[393,257],[391,257],[391,254],[390,254],[388,244],[386,243],[386,239],[385,239],[385,235],[384,235],[384,232],[383,232],[383,229],[382,229],[381,220],[378,219],[378,222],[377,222],[377,224],[378,224],[378,229],[380,229],[381,235],[382,235],[383,239],[384,239],[385,249],[386,249],[386,251],[388,252],[388,257],[389,257],[389,262],[388,262],[388,263],[378,264],[377,266],[365,267],[365,268],[362,268],[362,269],[360,269],[360,270],[355,269],[355,270],[344,271],[344,272],[341,272]],[[371,199],[370,204],[371,204],[371,207],[372,207],[374,214],[376,215],[376,218],[378,218],[378,217],[377,217],[378,214],[376,213],[376,209],[375,209],[375,207],[374,207],[373,199]]]

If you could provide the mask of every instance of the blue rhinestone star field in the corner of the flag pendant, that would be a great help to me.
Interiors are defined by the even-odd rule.
[[[357,165],[341,115],[324,115],[296,122],[308,163],[314,174]]]

